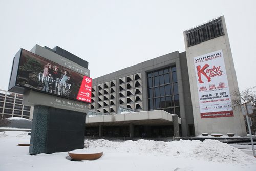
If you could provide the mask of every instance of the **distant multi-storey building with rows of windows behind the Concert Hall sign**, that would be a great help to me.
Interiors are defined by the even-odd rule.
[[[22,105],[23,95],[0,90],[0,117],[22,117],[32,120],[33,109]]]

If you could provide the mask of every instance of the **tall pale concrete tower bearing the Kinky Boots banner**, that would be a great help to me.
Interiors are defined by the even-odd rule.
[[[231,104],[238,82],[224,16],[183,34],[196,136],[246,136],[244,118]]]

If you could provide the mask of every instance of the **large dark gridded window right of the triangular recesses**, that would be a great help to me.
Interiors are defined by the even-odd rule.
[[[176,66],[147,73],[148,110],[162,109],[180,117]]]

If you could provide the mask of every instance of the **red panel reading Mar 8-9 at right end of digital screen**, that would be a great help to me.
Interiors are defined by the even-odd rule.
[[[76,99],[91,103],[91,98],[92,98],[92,78],[84,76],[79,92],[76,96]]]

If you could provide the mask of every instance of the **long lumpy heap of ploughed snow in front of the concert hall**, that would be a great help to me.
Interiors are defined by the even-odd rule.
[[[88,149],[115,150],[116,152],[138,153],[140,155],[192,157],[220,163],[245,164],[255,162],[255,159],[240,149],[211,139],[203,142],[199,140],[163,142],[142,139],[138,141],[112,142],[99,139],[95,141],[86,140],[85,146]]]

